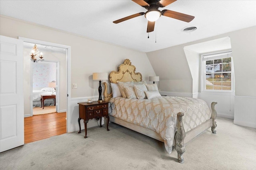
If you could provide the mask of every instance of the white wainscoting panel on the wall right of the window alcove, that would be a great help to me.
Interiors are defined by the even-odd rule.
[[[235,96],[234,124],[256,128],[256,97]]]

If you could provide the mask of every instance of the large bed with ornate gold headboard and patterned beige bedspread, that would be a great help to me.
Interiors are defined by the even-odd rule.
[[[136,67],[130,60],[125,59],[124,63],[118,66],[117,71],[110,72],[109,80],[112,88],[110,94],[107,92],[108,84],[103,83],[104,100],[110,102],[110,121],[164,142],[169,154],[172,152],[172,146],[175,146],[178,162],[183,163],[186,143],[210,127],[212,133],[216,133],[217,113],[214,106],[217,102],[212,102],[212,111],[210,111],[206,102],[201,99],[161,96],[158,89],[142,81],[142,75],[135,70]],[[116,84],[121,96],[113,89]],[[122,88],[122,84],[126,84],[126,87]],[[147,90],[144,85],[138,84],[145,84]],[[142,95],[140,98],[138,87],[144,88],[144,91],[140,88],[139,90],[141,94],[145,94],[145,97]],[[123,93],[124,89],[125,93]],[[137,90],[136,95],[131,92],[132,89]],[[126,96],[123,96],[124,94]]]

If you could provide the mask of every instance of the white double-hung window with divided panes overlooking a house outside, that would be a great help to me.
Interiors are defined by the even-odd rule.
[[[202,58],[202,90],[232,91],[233,64],[232,52],[203,54]]]

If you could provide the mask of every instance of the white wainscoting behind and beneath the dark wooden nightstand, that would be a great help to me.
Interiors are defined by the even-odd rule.
[[[79,106],[78,103],[86,102],[88,99],[92,101],[97,101],[98,96],[84,97],[84,98],[71,98],[71,128],[69,132],[79,131],[78,117],[79,117]],[[98,121],[100,123],[100,121]],[[87,128],[98,126],[98,123],[95,119],[90,119],[87,123]],[[84,120],[80,120],[81,130],[84,129]],[[102,118],[102,124],[104,124],[104,118]]]

